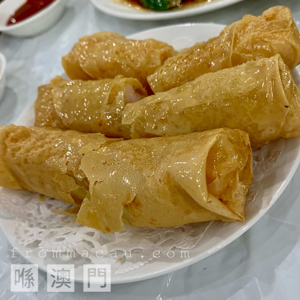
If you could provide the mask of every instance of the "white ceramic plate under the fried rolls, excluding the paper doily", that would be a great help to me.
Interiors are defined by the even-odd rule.
[[[216,36],[222,29],[223,26],[216,24],[183,24],[140,32],[128,38],[156,38],[173,45],[176,49],[182,49],[193,45],[197,41],[205,41],[208,38]],[[295,70],[293,70],[293,76],[297,84],[300,85],[300,77]],[[33,106],[30,106],[20,116],[16,124],[25,125],[29,121],[33,123],[33,115]],[[253,202],[253,205],[249,205],[246,209],[247,218],[245,222],[213,222],[209,230],[203,235],[201,243],[198,243],[194,248],[189,250],[189,258],[180,258],[178,256],[169,258],[166,254],[163,254],[160,258],[154,259],[146,265],[128,273],[112,274],[112,283],[128,283],[167,274],[191,265],[222,249],[242,235],[268,211],[292,179],[299,162],[299,138],[286,139],[278,160],[268,170],[268,176],[260,182],[261,188],[258,190],[256,200]],[[264,201],[266,198],[268,201]],[[25,250],[28,250],[28,248],[18,244],[13,237],[14,220],[0,218],[0,225],[11,245],[17,247],[21,255],[26,256]],[[38,251],[33,251],[29,261],[35,264],[38,263],[39,268],[46,271],[45,260],[38,256]],[[76,262],[72,261],[68,263],[76,264]],[[75,280],[83,280],[81,265],[75,269]]]

